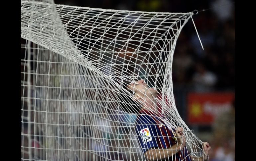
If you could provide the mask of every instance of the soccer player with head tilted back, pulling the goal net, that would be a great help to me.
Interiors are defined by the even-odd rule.
[[[195,157],[188,154],[183,128],[172,128],[169,123],[160,118],[155,99],[157,90],[148,88],[144,80],[129,83],[127,90],[134,94],[134,100],[141,104],[137,116],[137,139],[147,160],[165,161],[203,161],[208,159],[210,145],[203,143],[204,156]]]

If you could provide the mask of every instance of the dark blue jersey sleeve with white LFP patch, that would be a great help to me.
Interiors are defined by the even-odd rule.
[[[136,133],[143,153],[158,148],[157,122],[150,116],[140,116],[136,124]]]

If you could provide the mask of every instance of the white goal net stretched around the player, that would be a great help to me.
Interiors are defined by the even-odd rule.
[[[21,1],[21,159],[145,160],[127,78],[158,90],[162,119],[183,127],[189,155],[200,156],[202,142],[176,109],[171,72],[192,15]]]

